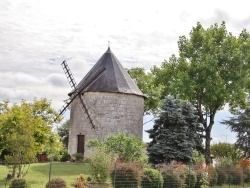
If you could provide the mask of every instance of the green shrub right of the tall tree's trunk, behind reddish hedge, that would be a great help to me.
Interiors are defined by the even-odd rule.
[[[217,143],[211,146],[211,154],[216,159],[217,165],[233,165],[241,158],[237,149],[229,143]]]

